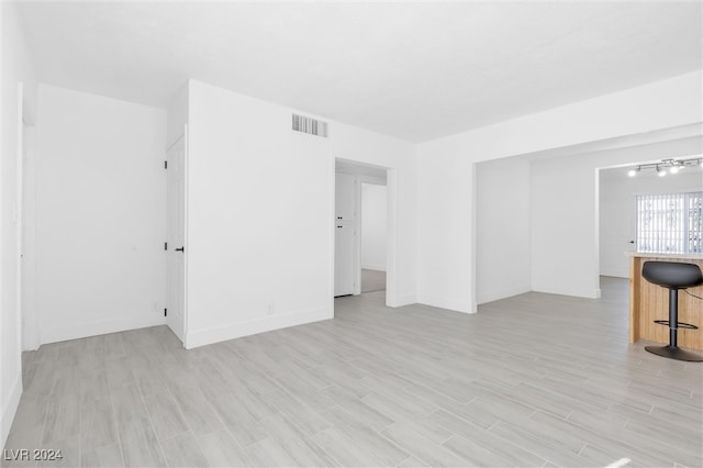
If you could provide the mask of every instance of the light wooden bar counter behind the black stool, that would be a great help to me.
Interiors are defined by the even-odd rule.
[[[669,290],[652,285],[641,276],[645,261],[681,261],[698,265],[703,270],[703,255],[626,253],[629,259],[629,343],[647,339],[669,344],[669,327],[654,323],[669,320]],[[692,294],[703,297],[703,285],[689,288]],[[693,324],[699,330],[679,328],[679,346],[703,350],[703,301],[679,291],[679,322]]]

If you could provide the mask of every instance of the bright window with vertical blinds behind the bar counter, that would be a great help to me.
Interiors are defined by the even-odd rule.
[[[703,254],[703,192],[637,196],[637,252]]]

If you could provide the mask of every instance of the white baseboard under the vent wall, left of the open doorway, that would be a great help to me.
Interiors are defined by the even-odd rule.
[[[330,308],[321,308],[196,330],[187,334],[186,348],[192,349],[242,336],[256,335],[257,333],[271,332],[328,319],[334,319],[334,311]]]

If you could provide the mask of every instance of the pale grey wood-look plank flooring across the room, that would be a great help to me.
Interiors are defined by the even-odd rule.
[[[44,345],[23,356],[5,450],[90,467],[702,465],[703,366],[627,343],[626,280],[478,314],[381,298],[192,350],[165,326]]]

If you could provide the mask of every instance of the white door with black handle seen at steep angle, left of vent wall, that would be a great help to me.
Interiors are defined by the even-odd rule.
[[[183,341],[186,330],[186,137],[167,153],[166,323]]]

